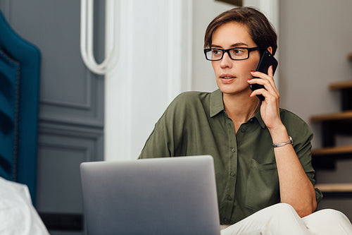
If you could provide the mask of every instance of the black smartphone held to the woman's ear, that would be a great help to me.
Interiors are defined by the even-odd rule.
[[[258,64],[258,67],[256,69],[256,71],[259,71],[261,73],[265,73],[268,74],[268,68],[270,66],[272,66],[272,75],[274,75],[276,68],[277,68],[277,60],[274,58],[274,56],[272,56],[272,54],[268,51],[265,50],[265,52],[263,53],[263,55],[260,57],[260,61]],[[257,78],[257,77],[254,77]],[[260,89],[260,88],[264,88],[263,85],[259,85],[257,83],[251,84],[250,88],[252,91]],[[259,100],[263,101],[265,100],[265,97],[263,97],[263,95],[257,95],[257,97],[259,98]]]

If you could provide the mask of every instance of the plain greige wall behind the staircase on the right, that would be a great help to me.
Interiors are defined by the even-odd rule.
[[[339,93],[329,83],[351,80],[352,1],[284,0],[279,8],[279,91],[281,106],[310,124],[321,147],[321,126],[310,116],[340,111]],[[340,137],[338,145],[351,145],[351,137]],[[352,159],[337,162],[336,171],[317,171],[318,183],[351,183]],[[320,208],[341,210],[352,219],[351,198],[325,198]]]

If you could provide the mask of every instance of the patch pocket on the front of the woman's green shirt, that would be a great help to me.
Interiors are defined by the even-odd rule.
[[[260,164],[251,159],[245,196],[245,206],[255,211],[279,203],[276,162]]]

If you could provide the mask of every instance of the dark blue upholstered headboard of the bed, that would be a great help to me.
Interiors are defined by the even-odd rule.
[[[35,203],[40,52],[0,11],[0,176],[24,183]]]

